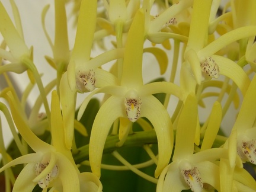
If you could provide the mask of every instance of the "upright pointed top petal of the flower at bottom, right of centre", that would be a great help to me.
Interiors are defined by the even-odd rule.
[[[186,158],[194,152],[194,139],[197,126],[196,97],[189,94],[181,111],[175,140],[173,161]]]

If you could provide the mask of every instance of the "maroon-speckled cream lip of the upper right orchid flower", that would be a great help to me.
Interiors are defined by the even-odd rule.
[[[219,66],[215,63],[212,57],[206,57],[203,62],[200,62],[201,71],[206,73],[211,78],[219,78]]]

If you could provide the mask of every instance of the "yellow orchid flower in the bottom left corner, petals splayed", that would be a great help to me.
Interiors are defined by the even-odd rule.
[[[27,164],[18,175],[13,191],[32,191],[36,184],[46,190],[49,187],[62,189],[62,191],[80,191],[80,186],[84,186],[81,181],[88,182],[88,185],[98,185],[97,190],[102,187],[95,175],[80,174],[72,158],[71,151],[65,146],[63,120],[60,111],[59,98],[56,91],[52,93],[51,107],[51,133],[52,145],[40,140],[29,129],[23,117],[18,111],[18,103],[11,92],[8,92],[10,107],[14,122],[24,140],[35,151],[27,155],[20,156],[0,168],[0,172],[8,167],[17,164]],[[92,187],[95,188],[95,187]]]

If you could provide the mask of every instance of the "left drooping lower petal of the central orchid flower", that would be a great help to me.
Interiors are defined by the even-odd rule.
[[[97,177],[100,177],[100,164],[105,140],[111,125],[118,117],[126,117],[124,98],[111,96],[98,111],[91,130],[89,161],[91,170]]]

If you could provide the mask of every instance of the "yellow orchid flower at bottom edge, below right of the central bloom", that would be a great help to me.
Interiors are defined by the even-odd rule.
[[[215,161],[220,156],[227,158],[227,150],[215,148],[194,153],[196,127],[196,97],[189,94],[178,120],[172,162],[162,171],[156,191],[203,191],[207,184],[219,191],[219,167]]]

